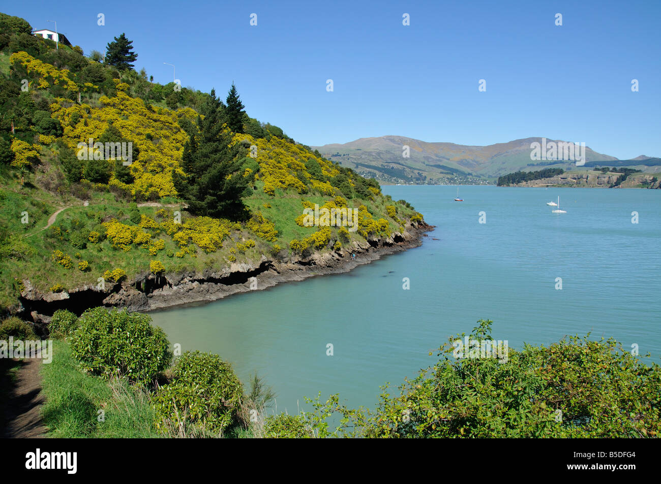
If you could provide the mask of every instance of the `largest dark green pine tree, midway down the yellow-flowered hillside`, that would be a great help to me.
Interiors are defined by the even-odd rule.
[[[245,148],[238,143],[229,147],[232,133],[223,130],[223,108],[212,89],[200,109],[197,129],[192,130],[197,132],[190,133],[184,145],[182,169],[187,176],[175,172],[173,182],[190,213],[242,220],[247,209],[241,195],[250,181],[243,176],[245,158],[240,155]]]

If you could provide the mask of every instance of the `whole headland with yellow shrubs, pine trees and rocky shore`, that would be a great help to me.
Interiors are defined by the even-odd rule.
[[[250,118],[235,86],[153,83],[123,35],[101,62],[0,23],[3,312],[212,300],[420,243],[410,204]],[[315,204],[356,226],[302,223]]]

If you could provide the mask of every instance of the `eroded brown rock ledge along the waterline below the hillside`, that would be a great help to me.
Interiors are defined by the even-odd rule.
[[[82,314],[96,306],[115,306],[130,311],[151,311],[184,304],[210,302],[236,293],[266,289],[278,283],[302,281],[315,275],[348,272],[358,265],[382,256],[401,252],[422,244],[424,232],[434,226],[422,222],[407,225],[403,233],[388,238],[372,238],[354,242],[340,252],[315,253],[307,257],[292,257],[283,261],[262,257],[256,263],[232,263],[222,269],[205,269],[182,273],[153,275],[143,273],[134,279],[115,285],[106,282],[105,291],[93,285],[78,287],[62,293],[41,293],[30,281],[23,281],[20,294],[20,316],[32,319],[40,327],[50,322],[58,309]],[[351,254],[356,259],[351,259]],[[40,329],[40,328],[38,328]]]

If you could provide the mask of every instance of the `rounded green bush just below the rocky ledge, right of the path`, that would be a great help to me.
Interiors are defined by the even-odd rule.
[[[163,329],[146,314],[94,308],[85,311],[71,334],[73,356],[83,369],[102,376],[126,376],[146,383],[172,359]]]

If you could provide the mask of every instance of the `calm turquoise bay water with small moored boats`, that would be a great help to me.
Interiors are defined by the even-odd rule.
[[[289,413],[309,409],[303,396],[317,392],[373,407],[380,385],[416,376],[434,363],[429,351],[480,318],[510,347],[590,331],[659,361],[660,190],[462,186],[463,203],[452,200],[456,190],[383,187],[436,225],[419,248],[350,273],[150,314],[184,351],[218,353],[244,381],[257,370]],[[567,213],[546,205],[558,195]]]

